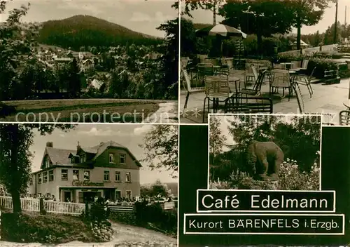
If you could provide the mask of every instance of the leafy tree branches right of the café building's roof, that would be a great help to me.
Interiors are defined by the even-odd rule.
[[[147,162],[151,170],[165,169],[177,177],[178,171],[178,126],[156,125],[146,133],[144,144],[146,157],[141,161]]]

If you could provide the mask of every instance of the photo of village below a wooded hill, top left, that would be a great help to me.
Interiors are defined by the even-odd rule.
[[[0,120],[177,123],[173,4],[1,1]]]

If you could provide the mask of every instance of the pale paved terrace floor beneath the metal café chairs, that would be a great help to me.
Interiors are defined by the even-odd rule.
[[[244,71],[235,71],[233,76],[239,77],[241,81],[244,80]],[[339,84],[325,85],[323,83],[316,83],[316,80],[311,87],[314,91],[312,98],[309,97],[309,92],[306,86],[300,86],[302,91],[302,97],[304,99],[304,109],[307,113],[323,113],[332,114],[332,116],[324,117],[323,123],[333,123],[339,125],[339,112],[346,107],[343,102],[347,101],[349,95],[349,80],[342,79]],[[250,86],[252,87],[252,86]],[[262,95],[269,95],[269,85],[263,84],[261,88]],[[186,100],[186,91],[181,88],[180,95],[180,110],[181,110],[181,123],[202,123],[202,111],[205,94],[204,92],[192,93],[188,100],[188,107],[186,114],[183,116],[183,105]],[[281,90],[280,90],[281,93]],[[264,96],[265,97],[265,96]],[[268,97],[268,96],[267,96]],[[276,100],[274,102],[274,114],[300,114],[299,107],[297,105],[297,98],[293,96],[288,101],[288,98]],[[220,112],[220,111],[219,111]],[[207,113],[206,113],[207,115]],[[207,116],[205,118],[207,122]]]

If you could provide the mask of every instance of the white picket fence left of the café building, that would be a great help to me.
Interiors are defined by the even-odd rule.
[[[13,203],[10,196],[0,196],[0,206],[12,209]],[[22,211],[40,211],[40,201],[38,199],[21,198]],[[43,201],[43,209],[47,213],[59,213],[62,215],[79,216],[85,211],[84,203],[70,203],[61,201]]]

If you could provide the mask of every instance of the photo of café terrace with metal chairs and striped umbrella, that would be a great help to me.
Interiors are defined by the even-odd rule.
[[[346,11],[346,1],[335,2]],[[311,4],[313,25],[297,29],[304,8],[293,2],[181,1],[180,122],[307,113],[349,125],[349,35],[334,27],[335,2]]]

